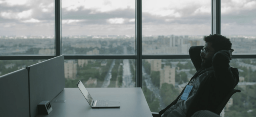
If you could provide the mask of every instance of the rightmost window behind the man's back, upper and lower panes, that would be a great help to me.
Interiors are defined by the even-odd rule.
[[[229,117],[254,116],[255,106],[255,44],[256,44],[256,5],[255,0],[221,0],[221,34],[232,42],[234,55],[242,55],[230,61],[230,66],[238,68],[239,83],[224,109]],[[249,55],[247,59],[243,58]],[[248,59],[250,58],[250,59]],[[252,59],[254,58],[254,59]]]

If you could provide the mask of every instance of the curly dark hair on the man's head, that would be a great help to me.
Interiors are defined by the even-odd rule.
[[[230,39],[219,34],[204,36],[204,41],[212,43],[212,48],[214,49],[215,52],[218,52],[221,50],[228,51],[232,47],[232,43],[230,42]]]

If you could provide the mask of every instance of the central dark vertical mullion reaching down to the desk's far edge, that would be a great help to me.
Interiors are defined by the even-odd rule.
[[[136,0],[136,87],[142,88],[142,0]]]

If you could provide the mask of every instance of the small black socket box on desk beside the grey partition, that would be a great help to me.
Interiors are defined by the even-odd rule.
[[[48,115],[52,111],[50,101],[41,101],[37,105],[38,115]]]

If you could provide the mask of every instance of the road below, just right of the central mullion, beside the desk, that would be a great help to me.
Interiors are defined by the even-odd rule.
[[[160,90],[159,88],[157,88],[156,86],[153,85],[150,75],[148,75],[144,69],[144,67],[142,66],[142,75],[144,76],[144,81],[146,83],[146,87],[148,88],[148,90],[152,91],[155,94],[155,97],[159,99],[159,105],[160,105],[160,109],[164,109],[166,106],[162,101],[162,97],[160,96]]]

